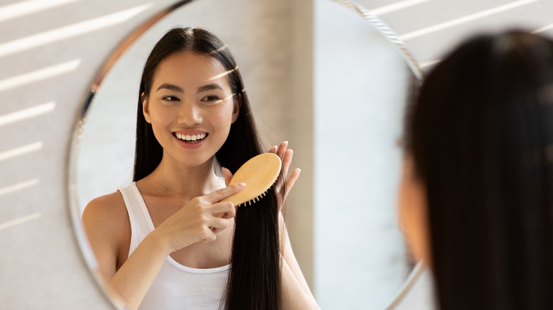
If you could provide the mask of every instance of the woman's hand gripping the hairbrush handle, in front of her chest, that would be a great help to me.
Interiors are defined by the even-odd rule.
[[[166,242],[169,253],[196,242],[215,241],[216,234],[226,229],[230,225],[229,219],[236,214],[232,202],[220,202],[220,200],[240,192],[244,186],[244,183],[238,183],[190,200],[160,224],[155,229],[155,235]],[[221,217],[220,214],[223,216]]]

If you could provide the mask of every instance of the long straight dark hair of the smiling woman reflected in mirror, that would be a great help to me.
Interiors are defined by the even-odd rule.
[[[228,70],[228,81],[240,113],[231,125],[228,138],[216,153],[220,166],[235,173],[243,163],[263,152],[250,103],[233,55],[223,41],[201,28],[173,28],[153,48],[147,58],[140,94],[148,96],[157,65],[178,52],[194,52],[217,59]],[[140,95],[139,95],[140,97]],[[160,164],[163,150],[155,139],[152,125],[145,121],[138,99],[135,173],[137,181]],[[279,309],[280,252],[277,195],[268,195],[251,207],[238,207],[225,309]]]

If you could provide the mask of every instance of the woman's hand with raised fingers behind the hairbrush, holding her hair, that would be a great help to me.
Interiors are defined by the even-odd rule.
[[[280,195],[280,211],[280,209],[284,205],[284,201],[286,201],[288,193],[290,193],[290,190],[294,187],[294,183],[296,183],[296,180],[298,180],[301,170],[300,168],[295,168],[288,180],[286,180],[286,176],[288,176],[288,169],[290,168],[290,163],[292,162],[292,157],[294,156],[294,151],[288,149],[288,141],[281,142],[278,147],[275,145],[274,147],[269,149],[269,153],[277,154],[282,162],[282,178],[279,179],[276,186],[277,195]],[[231,173],[227,168],[223,167],[223,176],[225,176],[225,184],[228,186],[230,179],[233,178],[233,173]]]

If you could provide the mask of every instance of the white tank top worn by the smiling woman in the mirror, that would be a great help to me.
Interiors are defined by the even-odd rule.
[[[135,183],[119,191],[130,219],[130,256],[145,236],[154,230],[154,224]],[[138,309],[219,309],[229,270],[230,265],[210,269],[189,268],[167,256]]]

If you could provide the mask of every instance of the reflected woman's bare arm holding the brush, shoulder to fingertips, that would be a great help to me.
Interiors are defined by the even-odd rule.
[[[130,309],[137,309],[170,253],[199,241],[214,241],[216,232],[229,226],[228,218],[234,216],[235,207],[218,201],[242,187],[235,185],[194,198],[148,234],[126,260],[120,257],[121,253],[125,255],[121,249],[128,249],[130,244],[130,222],[123,198],[113,193],[92,200],[82,222],[99,271],[111,291]],[[228,218],[213,214],[227,214]],[[117,269],[120,261],[124,263]]]

